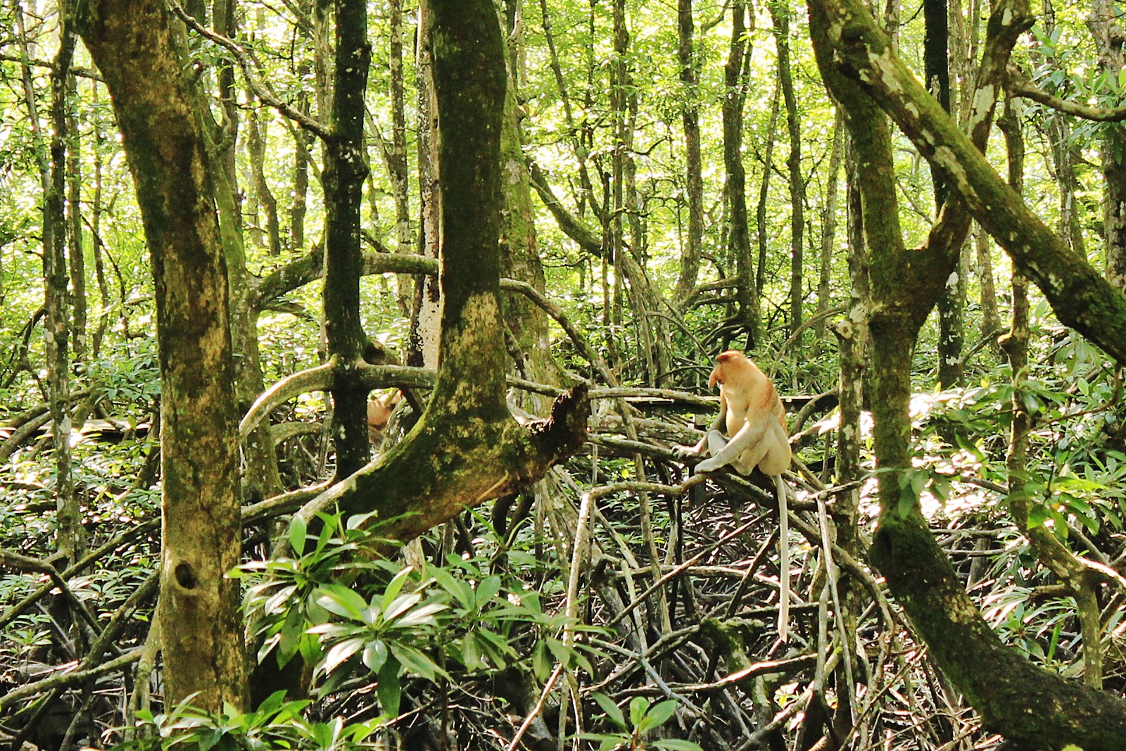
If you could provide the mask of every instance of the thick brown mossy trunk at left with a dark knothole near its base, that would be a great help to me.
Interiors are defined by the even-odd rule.
[[[79,28],[114,98],[157,290],[164,699],[245,706],[238,413],[226,266],[182,26],[159,0],[89,0]]]

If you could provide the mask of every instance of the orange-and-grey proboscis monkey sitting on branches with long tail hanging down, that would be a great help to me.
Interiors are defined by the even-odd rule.
[[[754,467],[770,475],[778,493],[778,635],[789,628],[789,518],[781,473],[792,457],[786,409],[770,379],[742,352],[729,349],[716,358],[708,386],[720,384],[720,414],[695,446],[678,446],[677,456],[711,455],[697,472],[714,472],[731,465],[741,475]],[[724,435],[725,431],[726,435]]]

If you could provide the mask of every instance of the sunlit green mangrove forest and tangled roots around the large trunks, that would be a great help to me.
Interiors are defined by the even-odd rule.
[[[225,730],[199,719],[198,737],[291,744],[266,748],[1004,748],[997,717],[936,667],[927,626],[867,564],[879,473],[859,410],[882,396],[858,332],[894,301],[878,283],[866,288],[861,217],[873,198],[861,182],[872,178],[826,93],[805,8],[498,3],[509,403],[521,419],[545,417],[562,388],[587,384],[587,442],[543,480],[489,495],[386,557],[354,557],[379,529],[361,531],[348,513],[310,524],[309,537],[301,513],[291,520],[321,483],[367,463],[366,449],[340,450],[351,408],[333,409],[327,381],[288,382],[267,402],[268,420],[252,406],[341,352],[330,345],[332,286],[320,280],[336,199],[322,187],[332,157],[315,124],[336,117],[347,5],[195,0],[167,10],[185,35],[184,75],[206,92],[214,125],[234,395],[239,417],[258,420],[241,436],[251,651],[265,638],[267,663],[300,655],[313,689],[307,706],[274,697],[257,714],[229,708]],[[161,555],[162,293],[106,77],[64,26],[68,8],[0,6],[0,733],[12,748],[160,748],[145,736],[195,716],[163,701],[149,628]],[[365,10],[370,169],[358,184],[357,253],[369,340],[352,345],[370,365],[426,369],[365,382],[363,393],[376,386],[373,400],[397,404],[369,433],[378,462],[420,410],[443,406],[426,401],[440,206],[419,8],[387,0]],[[974,125],[995,8],[924,0],[877,10],[895,52],[956,122]],[[986,157],[1120,290],[1123,8],[1045,2],[1030,12]],[[950,188],[905,136],[890,154],[901,248],[933,249]],[[908,345],[894,366],[913,392],[900,486],[1007,645],[1119,695],[1120,369],[1035,287],[1022,292],[976,224],[953,258],[913,357]],[[915,283],[936,284],[900,281],[909,296]],[[1011,342],[1026,337],[1021,359]],[[789,412],[798,461],[788,476],[796,531],[784,540],[797,594],[788,643],[771,625],[769,492],[732,475],[689,481],[670,450],[711,421],[707,374],[727,348],[762,366]],[[288,556],[269,560],[271,540]],[[282,687],[256,676],[256,698]],[[1044,737],[1043,748],[1060,748]],[[200,748],[208,742],[217,741]],[[1039,748],[1022,742],[1008,748]]]

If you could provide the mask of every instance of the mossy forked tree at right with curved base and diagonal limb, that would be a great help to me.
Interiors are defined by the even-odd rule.
[[[912,470],[909,441],[911,360],[919,328],[941,292],[947,278],[941,271],[951,259],[903,249],[891,134],[881,108],[896,119],[951,191],[1009,250],[1018,268],[1037,280],[1061,319],[1082,325],[1116,355],[1123,343],[1112,340],[1110,331],[1126,325],[1126,316],[1120,315],[1126,301],[1028,214],[981,157],[983,141],[971,142],[954,126],[899,62],[861,3],[815,0],[810,5],[810,19],[817,64],[844,111],[865,177],[864,221],[877,305],[870,323],[872,404],[882,507],[872,561],[935,661],[981,713],[986,728],[1028,748],[1054,751],[1073,743],[1085,751],[1121,749],[1126,701],[1036,668],[1008,649],[981,617],[920,510],[920,476]],[[1021,2],[999,3],[990,21],[990,38],[1013,38],[1013,30],[1027,20]],[[1007,56],[1003,46],[991,52]],[[977,91],[975,102],[986,106],[981,119],[972,117],[972,128],[988,127],[997,87],[985,88],[978,80]],[[1096,286],[1080,289],[1080,280]],[[1069,298],[1058,296],[1065,292]]]

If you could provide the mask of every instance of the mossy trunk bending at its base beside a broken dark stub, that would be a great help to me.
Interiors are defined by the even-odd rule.
[[[490,0],[423,3],[432,61],[438,158],[441,332],[438,373],[422,419],[390,452],[301,510],[333,503],[375,511],[381,535],[411,539],[464,508],[515,492],[573,453],[584,394],[547,421],[520,426],[504,401],[500,306],[503,42]]]

